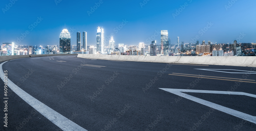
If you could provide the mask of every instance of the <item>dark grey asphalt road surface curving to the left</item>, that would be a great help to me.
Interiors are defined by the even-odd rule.
[[[247,72],[256,71],[252,67],[91,60],[76,56],[15,59],[2,67],[20,89],[88,131],[256,130],[253,122],[159,89],[255,95],[256,74]],[[0,86],[4,91],[3,81]],[[61,130],[12,90],[8,91],[8,127],[1,122],[0,130]],[[186,94],[256,116],[254,97]],[[1,95],[4,101],[3,92]],[[5,107],[1,103],[0,113],[4,117]]]

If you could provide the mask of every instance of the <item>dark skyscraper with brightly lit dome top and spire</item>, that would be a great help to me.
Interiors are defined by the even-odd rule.
[[[60,33],[60,54],[70,54],[70,33],[66,28]]]

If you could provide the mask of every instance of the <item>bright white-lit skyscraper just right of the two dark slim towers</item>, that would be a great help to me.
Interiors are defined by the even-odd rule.
[[[104,53],[104,29],[102,27],[97,28],[97,49],[96,51],[100,53]]]

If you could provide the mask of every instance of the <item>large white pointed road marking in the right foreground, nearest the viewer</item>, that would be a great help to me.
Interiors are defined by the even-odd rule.
[[[249,94],[249,93],[244,93],[244,92],[228,92],[228,91],[205,91],[205,90],[165,89],[165,88],[159,88],[159,89],[162,89],[164,91],[176,94],[178,96],[184,97],[184,98],[189,99],[191,101],[209,106],[209,107],[214,108],[216,110],[225,112],[227,114],[239,117],[241,119],[244,119],[246,121],[249,121],[249,122],[252,122],[252,123],[256,124],[256,117],[255,116],[252,116],[252,115],[249,115],[249,114],[246,114],[246,113],[242,113],[242,112],[239,112],[239,111],[236,111],[236,110],[233,110],[233,109],[230,109],[230,108],[227,108],[227,107],[224,107],[224,106],[221,106],[221,105],[218,105],[218,104],[215,104],[215,103],[212,103],[212,102],[209,102],[209,101],[206,101],[206,100],[203,100],[203,99],[200,99],[200,98],[197,98],[197,97],[185,94],[185,93],[182,93],[182,92],[246,95],[246,96],[251,96],[251,97],[256,98],[256,95],[254,95],[254,94]]]

